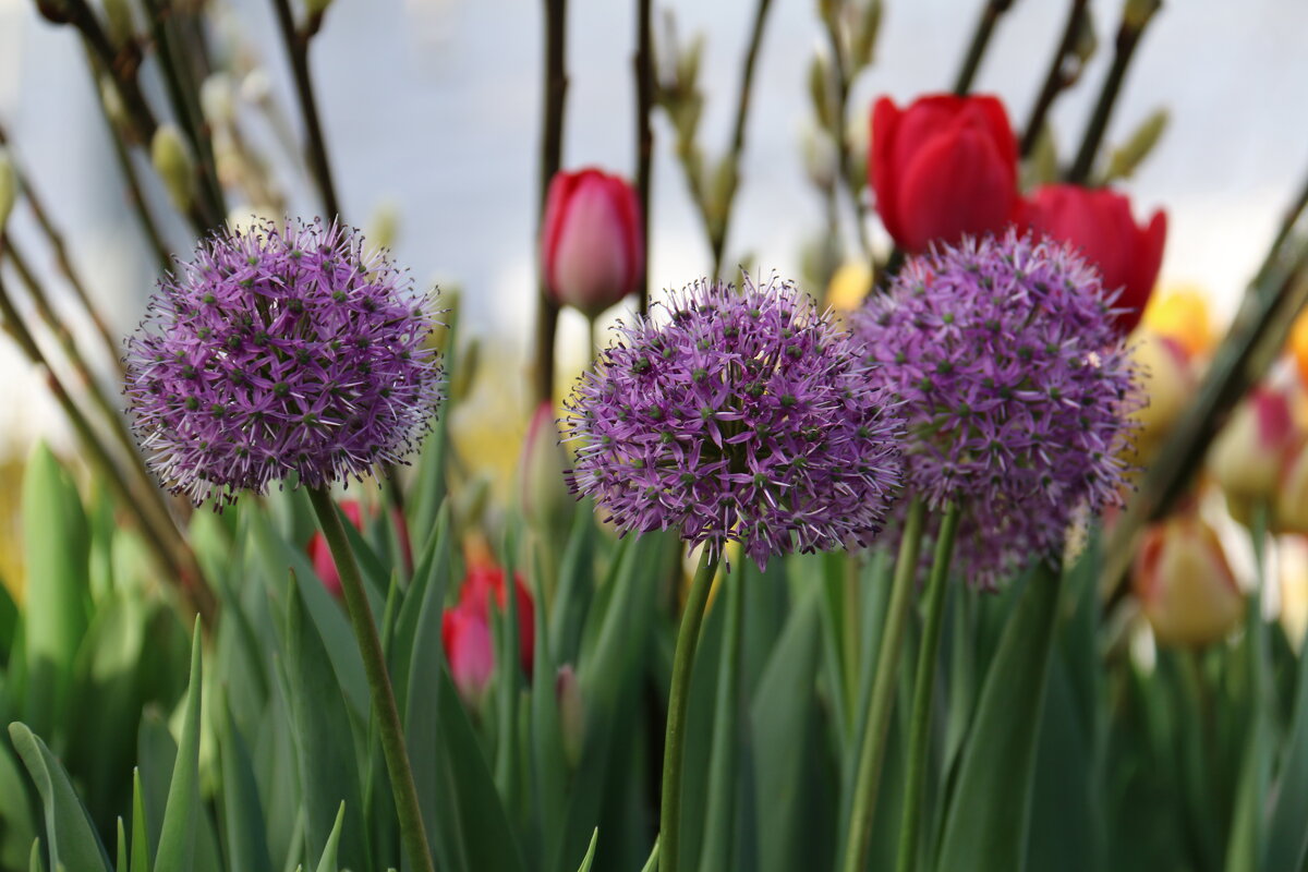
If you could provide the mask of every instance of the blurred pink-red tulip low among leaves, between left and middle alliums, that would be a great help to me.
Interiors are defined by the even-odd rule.
[[[518,609],[518,651],[523,671],[530,676],[534,662],[536,624],[531,594],[514,574]],[[505,609],[504,570],[493,565],[472,565],[463,579],[459,601],[446,609],[441,621],[441,641],[450,673],[464,699],[480,701],[494,671],[494,643],[490,634],[490,596]]]

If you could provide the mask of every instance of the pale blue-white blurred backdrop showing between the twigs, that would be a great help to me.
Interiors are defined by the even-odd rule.
[[[293,109],[271,4],[215,5],[226,43],[220,52],[245,51],[258,63],[238,97],[267,92]],[[509,404],[523,380],[536,293],[540,7],[526,0],[336,0],[310,55],[344,213],[365,229],[395,221],[395,256],[415,280],[462,289],[464,318],[485,339],[483,354],[500,361],[496,396]],[[629,175],[634,4],[574,0],[570,7],[564,166],[596,163]],[[852,94],[854,116],[865,116],[878,94],[906,101],[947,89],[978,8],[972,0],[887,3],[876,61]],[[664,0],[655,9],[675,16],[683,42],[704,34],[701,140],[725,148],[753,4]],[[1109,63],[1120,4],[1093,1],[1091,10],[1100,50],[1052,114],[1065,154],[1080,136]],[[1015,124],[1035,101],[1063,16],[1063,4],[1019,1],[997,30],[974,90],[999,94]],[[657,30],[664,26],[661,21]],[[1171,112],[1163,141],[1121,187],[1131,193],[1138,218],[1168,210],[1162,284],[1202,289],[1219,324],[1256,269],[1301,171],[1308,112],[1292,107],[1301,107],[1308,81],[1305,37],[1308,4],[1301,0],[1169,3],[1143,39],[1108,131],[1109,144],[1120,143],[1154,110]],[[729,263],[749,260],[795,275],[803,241],[821,227],[821,203],[800,156],[814,123],[806,69],[820,43],[814,3],[776,0],[759,60]],[[80,52],[73,31],[47,24],[34,4],[0,0],[0,122],[65,230],[93,295],[112,327],[127,331],[156,269],[122,199]],[[285,116],[298,122],[294,111]],[[658,289],[706,272],[709,252],[671,153],[667,119],[657,112],[654,120],[650,284]],[[143,173],[143,182],[149,196],[164,200],[153,174]],[[315,208],[294,199],[311,193],[307,179],[286,188],[292,208]],[[20,205],[10,233],[31,231]],[[190,250],[181,221],[166,233],[173,250]],[[50,258],[38,265],[54,271]],[[58,282],[51,286],[60,293]],[[564,312],[560,346],[578,365],[586,353],[585,324],[572,311]],[[38,435],[67,439],[44,386],[7,341],[0,341],[0,456],[21,456]]]

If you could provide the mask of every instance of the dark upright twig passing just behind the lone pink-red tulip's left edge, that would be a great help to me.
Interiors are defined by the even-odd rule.
[[[540,195],[538,200],[536,239],[545,220],[545,197],[549,182],[562,165],[564,99],[568,95],[566,59],[568,0],[545,0],[545,111],[540,133]],[[538,243],[539,244],[539,243]],[[559,303],[545,289],[544,272],[536,295],[536,400],[555,395],[555,331],[559,327]]]

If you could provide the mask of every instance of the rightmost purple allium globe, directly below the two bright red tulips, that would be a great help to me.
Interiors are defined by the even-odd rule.
[[[960,505],[978,584],[1061,554],[1078,507],[1120,502],[1139,395],[1112,303],[1071,248],[1008,231],[909,260],[854,315],[904,403],[905,489]]]

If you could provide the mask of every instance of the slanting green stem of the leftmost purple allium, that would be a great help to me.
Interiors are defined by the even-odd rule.
[[[349,622],[354,629],[358,652],[364,658],[364,672],[368,675],[368,689],[373,698],[373,713],[377,715],[382,754],[386,757],[386,770],[391,777],[400,839],[404,842],[409,868],[415,872],[434,872],[432,850],[428,847],[426,830],[422,828],[422,811],[417,801],[417,786],[413,783],[413,769],[409,766],[408,749],[404,746],[404,728],[400,726],[395,692],[386,672],[386,655],[377,635],[377,624],[368,604],[368,594],[364,591],[358,562],[354,560],[354,552],[349,546],[349,539],[345,536],[331,494],[324,488],[310,488],[309,499],[314,506],[314,514],[318,515],[318,524],[327,540],[336,571],[340,574],[340,588],[345,595]]]

